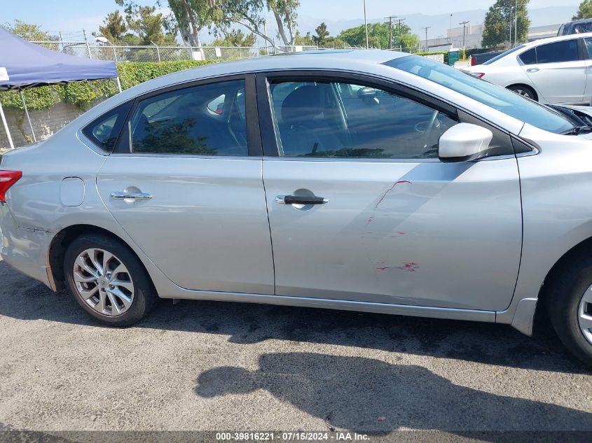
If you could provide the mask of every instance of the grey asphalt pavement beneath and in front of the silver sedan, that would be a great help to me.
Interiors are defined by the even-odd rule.
[[[167,300],[107,328],[0,261],[0,430],[592,430],[591,370],[539,330]]]

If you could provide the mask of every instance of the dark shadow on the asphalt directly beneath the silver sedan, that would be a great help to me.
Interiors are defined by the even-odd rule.
[[[0,315],[100,326],[67,293],[52,293],[0,261]],[[336,344],[489,365],[589,373],[549,323],[526,337],[509,325],[263,304],[162,300],[135,328],[207,332],[237,344],[266,339]]]

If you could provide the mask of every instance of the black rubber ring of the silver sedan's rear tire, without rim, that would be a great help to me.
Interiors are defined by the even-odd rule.
[[[90,248],[101,248],[116,255],[130,272],[130,276],[134,282],[134,299],[132,300],[130,309],[121,314],[121,316],[106,316],[100,314],[92,309],[92,307],[88,306],[88,304],[82,300],[82,297],[78,295],[74,283],[74,262],[80,253]],[[78,304],[92,317],[109,325],[129,326],[137,323],[148,314],[157,299],[156,291],[153,289],[149,276],[135,253],[133,253],[130,248],[121,241],[100,234],[83,235],[71,242],[64,255],[64,274],[64,279],[69,292],[76,302],[78,302]]]

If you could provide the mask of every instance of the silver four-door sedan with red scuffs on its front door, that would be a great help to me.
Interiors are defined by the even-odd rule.
[[[158,298],[508,323],[592,363],[591,128],[415,55],[126,90],[4,155],[0,254],[104,323]]]

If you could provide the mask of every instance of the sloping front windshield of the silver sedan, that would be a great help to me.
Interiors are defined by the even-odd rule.
[[[460,94],[480,101],[504,114],[545,131],[560,134],[573,129],[570,120],[551,108],[525,99],[505,87],[494,85],[440,62],[425,57],[410,55],[384,63],[448,87]]]

